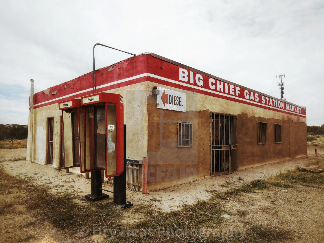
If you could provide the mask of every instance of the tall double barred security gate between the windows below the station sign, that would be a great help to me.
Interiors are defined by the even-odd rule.
[[[237,171],[237,116],[210,113],[211,176]]]

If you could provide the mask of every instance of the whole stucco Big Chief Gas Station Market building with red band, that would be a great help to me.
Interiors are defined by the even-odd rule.
[[[96,90],[123,97],[126,154],[147,156],[148,189],[307,155],[305,107],[154,53],[98,69]],[[34,95],[32,161],[62,165],[58,103],[91,94],[92,72]]]

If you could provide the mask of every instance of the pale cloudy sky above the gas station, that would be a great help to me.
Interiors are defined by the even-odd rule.
[[[324,124],[324,1],[0,0],[0,123],[28,124],[34,92],[93,69],[92,48],[153,52],[306,106]],[[131,55],[97,46],[96,69]]]

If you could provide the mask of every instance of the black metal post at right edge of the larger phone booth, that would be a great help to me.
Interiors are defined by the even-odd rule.
[[[114,203],[126,204],[126,125],[124,125],[124,172],[114,177]]]

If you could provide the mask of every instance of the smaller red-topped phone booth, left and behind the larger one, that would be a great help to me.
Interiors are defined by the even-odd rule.
[[[80,120],[83,120],[83,108],[81,99],[71,99],[59,103],[62,110],[63,132],[63,165],[65,168],[79,167],[82,164],[80,147]]]

